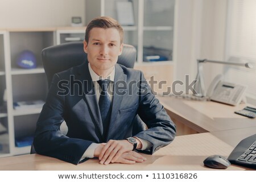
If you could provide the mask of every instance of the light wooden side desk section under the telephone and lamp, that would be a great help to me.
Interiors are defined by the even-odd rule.
[[[256,118],[246,118],[234,111],[247,104],[230,106],[213,101],[158,97],[177,125],[177,135],[223,131],[256,126]]]

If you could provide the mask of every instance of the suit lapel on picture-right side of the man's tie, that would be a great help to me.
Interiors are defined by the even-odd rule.
[[[119,111],[119,108],[121,106],[122,99],[123,99],[123,95],[118,94],[115,91],[117,81],[126,82],[126,75],[123,73],[123,69],[119,66],[119,64],[115,64],[114,96],[113,96],[111,119],[110,119],[110,123],[109,123],[109,130],[108,130],[108,134],[107,134],[107,138],[106,138],[107,141],[110,138],[112,138],[113,131],[115,131],[114,124],[115,124],[117,114],[118,114],[118,111]]]

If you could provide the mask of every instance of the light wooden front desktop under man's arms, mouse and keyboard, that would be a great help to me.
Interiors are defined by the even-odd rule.
[[[228,157],[241,139],[255,134],[256,127],[218,131],[176,137],[170,145],[156,151],[154,155],[144,155],[147,160],[136,164],[98,164],[98,159],[73,165],[55,158],[38,154],[12,156],[0,159],[0,170],[217,170],[204,167],[203,161],[209,155]],[[226,170],[246,170],[249,168],[230,166]],[[251,170],[251,169],[249,169]]]

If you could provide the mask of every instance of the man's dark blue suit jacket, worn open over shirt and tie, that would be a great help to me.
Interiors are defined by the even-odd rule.
[[[174,140],[175,125],[151,93],[141,71],[116,64],[115,83],[119,87],[114,85],[112,117],[108,133],[104,136],[88,63],[55,74],[36,125],[35,151],[77,164],[93,142],[131,137],[137,114],[148,130],[134,137],[152,143],[150,154]],[[125,83],[127,88],[123,86]],[[68,126],[67,135],[60,132],[63,121]]]

